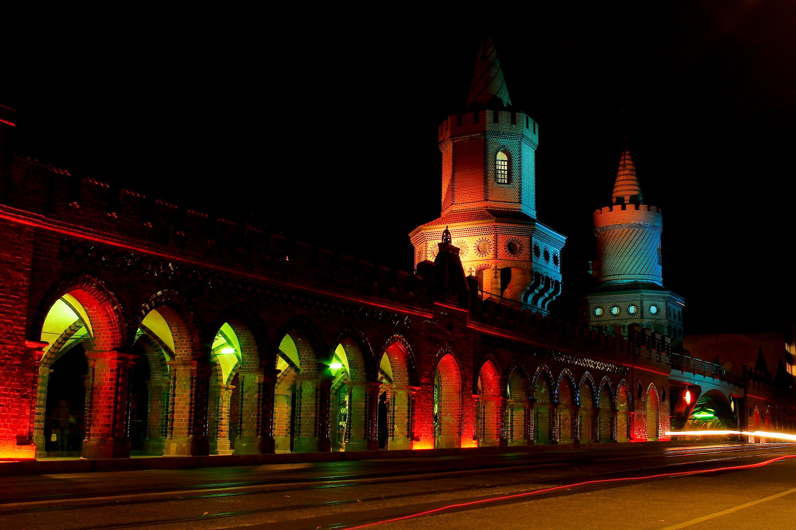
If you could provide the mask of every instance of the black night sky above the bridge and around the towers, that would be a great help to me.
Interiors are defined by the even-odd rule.
[[[794,318],[796,3],[262,16],[20,27],[0,83],[15,150],[410,269],[408,232],[439,216],[437,126],[490,33],[514,105],[540,123],[539,219],[568,236],[557,318],[575,320],[590,286],[591,212],[625,126],[686,334]]]

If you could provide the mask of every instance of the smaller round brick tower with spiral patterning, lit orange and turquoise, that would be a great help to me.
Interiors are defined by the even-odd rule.
[[[639,324],[680,342],[685,299],[663,287],[663,216],[644,203],[629,149],[620,157],[611,202],[594,213],[598,259],[590,273],[598,286],[587,294],[582,318],[607,331],[619,327],[623,335]]]

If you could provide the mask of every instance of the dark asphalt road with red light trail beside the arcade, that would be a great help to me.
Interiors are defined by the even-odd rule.
[[[750,469],[654,476],[787,455],[796,455],[796,444],[638,444],[597,451],[5,477],[0,478],[0,528],[302,530],[377,523],[366,528],[792,530],[796,458]],[[382,522],[430,510],[438,511]]]

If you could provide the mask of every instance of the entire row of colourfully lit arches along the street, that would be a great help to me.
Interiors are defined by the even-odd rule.
[[[142,304],[126,336],[118,301],[99,285],[63,292],[42,320],[38,458],[657,438],[654,385],[646,418],[634,420],[624,380],[595,385],[584,371],[576,382],[570,369],[554,377],[545,364],[493,354],[470,376],[451,346],[423,377],[400,334],[373,349],[346,328],[324,347],[312,323],[293,318],[274,347],[261,324],[232,315],[206,336],[186,304],[161,293]],[[646,437],[631,428],[639,420],[652,426]]]

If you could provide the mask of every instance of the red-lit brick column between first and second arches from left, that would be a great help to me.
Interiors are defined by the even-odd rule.
[[[83,458],[129,458],[128,377],[137,355],[88,351],[88,409]]]

